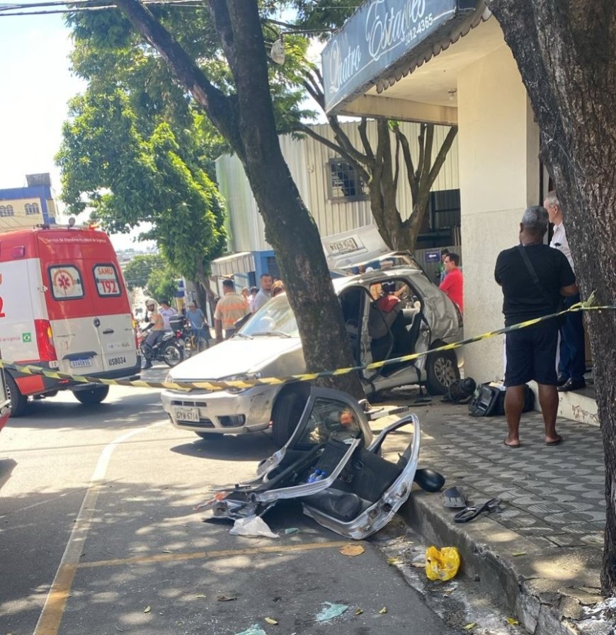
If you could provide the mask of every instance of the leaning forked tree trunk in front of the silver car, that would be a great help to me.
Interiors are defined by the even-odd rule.
[[[244,164],[276,252],[297,319],[307,369],[353,366],[342,311],[314,220],[283,158],[275,129],[266,49],[255,0],[209,0],[210,12],[233,74],[236,94],[224,96],[137,0],[118,0],[135,28],[166,60],[205,109]],[[357,373],[328,383],[363,396]]]

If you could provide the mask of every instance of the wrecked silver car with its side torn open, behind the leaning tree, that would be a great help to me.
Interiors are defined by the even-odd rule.
[[[426,352],[460,339],[460,313],[418,266],[392,266],[332,283],[358,366]],[[391,299],[395,310],[380,308],[380,298]],[[305,371],[295,315],[281,294],[268,300],[230,339],[171,369],[166,381],[245,381]],[[379,390],[418,383],[440,395],[459,378],[455,350],[360,371],[368,397]],[[271,424],[273,439],[282,446],[304,409],[306,389],[301,383],[190,393],[169,389],[161,393],[161,401],[175,427],[200,437],[256,432]]]

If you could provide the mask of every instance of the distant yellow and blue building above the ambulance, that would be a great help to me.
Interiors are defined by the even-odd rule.
[[[27,174],[25,181],[25,187],[0,189],[0,232],[56,223],[50,174]]]

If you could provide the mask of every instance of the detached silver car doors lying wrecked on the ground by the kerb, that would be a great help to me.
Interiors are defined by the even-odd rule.
[[[381,454],[389,434],[411,425],[395,462]],[[408,434],[408,430],[404,431]],[[291,438],[262,461],[253,481],[219,488],[200,505],[215,518],[261,517],[280,500],[299,499],[304,513],[331,531],[363,539],[384,527],[409,498],[413,480],[438,491],[445,479],[417,469],[420,427],[408,414],[372,438],[365,412],[350,395],[312,388]]]

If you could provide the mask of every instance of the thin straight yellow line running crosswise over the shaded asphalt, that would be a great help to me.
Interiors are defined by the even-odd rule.
[[[205,558],[232,558],[233,556],[251,556],[256,553],[280,553],[285,551],[312,551],[312,549],[334,549],[348,544],[348,540],[331,542],[310,542],[291,545],[268,545],[252,549],[222,549],[220,551],[194,551],[193,553],[156,553],[152,556],[134,556],[132,558],[114,558],[113,560],[97,560],[81,562],[76,568],[113,567],[124,564],[150,564],[152,562],[177,562],[181,560],[198,560]]]

